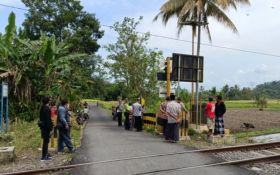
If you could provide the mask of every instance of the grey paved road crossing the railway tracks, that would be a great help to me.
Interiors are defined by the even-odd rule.
[[[91,118],[87,124],[82,147],[76,153],[73,163],[102,161],[151,154],[163,154],[190,150],[179,144],[165,143],[162,138],[148,133],[125,131],[117,127],[104,110],[91,107]],[[135,173],[166,168],[196,166],[218,162],[205,154],[185,154],[167,157],[145,158],[76,168],[77,175],[131,175]],[[235,166],[208,167],[158,174],[171,175],[253,175],[254,173]]]

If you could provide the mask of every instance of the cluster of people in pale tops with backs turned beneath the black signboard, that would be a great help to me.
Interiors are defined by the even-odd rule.
[[[163,128],[163,135],[166,141],[179,141],[179,126],[182,120],[182,111],[187,112],[181,98],[175,99],[175,95],[166,97],[160,105],[160,120]]]

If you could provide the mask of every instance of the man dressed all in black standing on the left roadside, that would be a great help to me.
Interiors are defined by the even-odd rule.
[[[43,138],[41,161],[51,160],[51,157],[48,155],[48,145],[50,141],[50,133],[53,128],[53,123],[51,120],[51,110],[49,108],[49,102],[50,99],[48,97],[44,97],[42,99],[42,106],[40,109],[40,120],[38,123],[41,129],[41,136]]]

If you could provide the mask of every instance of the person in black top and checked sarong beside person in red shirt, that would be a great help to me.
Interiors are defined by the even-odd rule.
[[[220,95],[217,96],[217,102],[215,104],[215,131],[214,135],[223,136],[225,133],[224,130],[224,114],[226,113],[226,105],[222,101]]]

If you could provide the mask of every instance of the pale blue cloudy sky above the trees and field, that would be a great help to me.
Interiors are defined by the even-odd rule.
[[[84,9],[94,13],[102,25],[112,25],[124,17],[143,16],[137,31],[191,41],[191,30],[188,27],[177,36],[176,19],[166,26],[160,20],[153,22],[164,2],[166,0],[81,0]],[[0,0],[0,3],[24,8],[20,0]],[[11,11],[17,15],[17,26],[23,22],[24,11],[0,6],[0,32],[4,31]],[[251,6],[239,7],[237,11],[232,9],[226,13],[237,26],[238,35],[210,18],[212,43],[209,43],[205,32],[202,33],[202,43],[278,56],[202,45],[201,55],[204,56],[205,64],[204,82],[200,85],[206,89],[214,86],[221,88],[225,84],[252,88],[260,83],[280,80],[280,1],[251,0]],[[116,41],[117,34],[114,31],[106,27],[102,27],[102,30],[105,35],[99,41],[101,46]],[[189,42],[151,37],[148,47],[162,50],[164,57],[172,56],[172,53],[191,54]],[[98,54],[103,57],[107,55],[104,48]],[[181,86],[187,89],[191,87],[190,83],[181,83]]]

